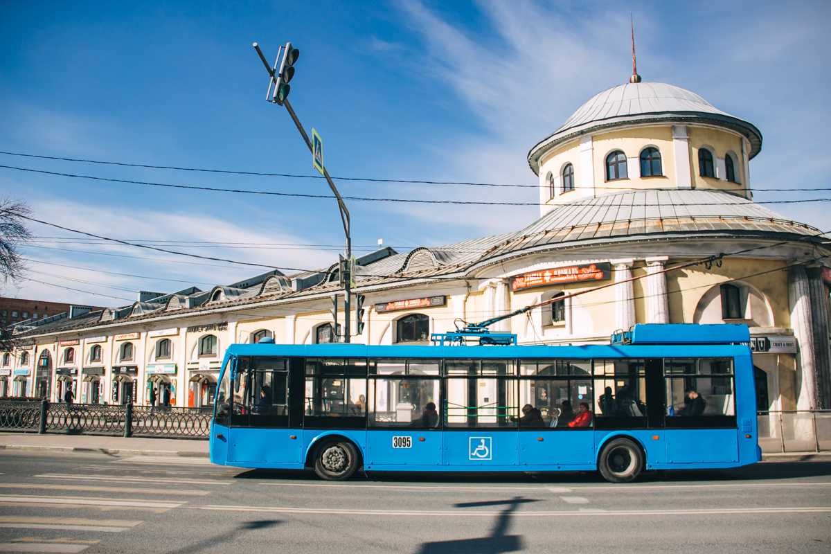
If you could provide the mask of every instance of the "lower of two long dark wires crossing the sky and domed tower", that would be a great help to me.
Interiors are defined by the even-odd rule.
[[[47,171],[45,169],[30,169],[20,168],[13,165],[0,165],[0,168],[16,169],[17,171],[27,171],[30,173],[40,173],[48,175],[57,175],[59,177],[71,177],[75,179],[93,179],[97,181],[108,181],[111,183],[126,183],[126,184],[145,184],[151,187],[167,187],[170,189],[190,189],[190,190],[208,190],[219,193],[235,193],[235,194],[263,194],[266,196],[287,196],[293,198],[307,198],[307,199],[333,199],[335,198],[329,194],[299,194],[299,193],[275,193],[263,190],[244,190],[244,189],[220,189],[216,187],[198,187],[187,184],[170,184],[170,183],[153,183],[150,181],[135,181],[131,179],[112,179],[107,177],[95,177],[93,175],[76,175],[68,173],[59,173],[57,171]],[[421,199],[379,199],[361,196],[343,196],[344,200],[354,200],[356,202],[401,202],[401,203],[429,203],[429,204],[450,204],[450,205],[477,205],[477,206],[538,206],[538,202],[479,202],[476,200],[421,200]],[[767,203],[806,203],[806,202],[831,202],[831,199],[806,199],[806,200],[766,200],[763,202],[755,202],[758,204]],[[642,203],[637,206],[643,207],[660,207],[664,204]],[[703,203],[685,203],[685,206],[721,206],[721,202],[703,202]]]

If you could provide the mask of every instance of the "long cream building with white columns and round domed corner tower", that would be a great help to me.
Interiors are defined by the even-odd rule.
[[[632,81],[594,96],[530,150],[537,221],[358,258],[356,292],[369,309],[352,341],[427,345],[455,321],[545,301],[491,328],[520,344],[561,345],[608,343],[636,323],[743,323],[760,410],[831,408],[829,239],[753,202],[750,160],[762,148],[754,125],[679,87]],[[60,374],[81,387],[81,400],[143,403],[158,385],[174,405],[211,404],[228,344],[337,341],[337,271],[335,263],[209,292],[140,292],[132,306],[23,322],[27,358],[56,365],[54,375],[30,375],[29,390],[57,390]],[[583,294],[566,296],[575,292]]]

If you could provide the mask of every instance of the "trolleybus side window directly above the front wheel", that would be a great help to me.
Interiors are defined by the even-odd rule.
[[[366,359],[307,358],[305,413],[312,417],[361,418],[363,422]]]

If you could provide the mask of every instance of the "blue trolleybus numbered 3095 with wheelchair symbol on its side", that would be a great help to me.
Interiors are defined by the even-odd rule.
[[[608,346],[233,345],[210,457],[366,471],[732,468],[760,460],[750,335],[638,325]]]

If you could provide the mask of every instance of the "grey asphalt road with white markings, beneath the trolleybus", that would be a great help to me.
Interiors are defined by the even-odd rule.
[[[831,552],[831,463],[647,474],[240,470],[0,452],[0,552]]]

